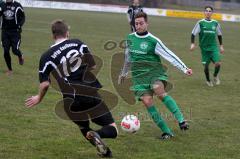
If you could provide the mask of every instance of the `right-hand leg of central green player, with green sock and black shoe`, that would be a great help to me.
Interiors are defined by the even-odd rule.
[[[165,91],[165,86],[167,81],[157,80],[153,84],[154,93],[158,96],[158,98],[164,103],[164,105],[168,108],[168,110],[174,115],[176,120],[179,123],[179,127],[181,130],[189,129],[189,125],[184,120],[183,114],[179,109],[179,106],[175,102],[175,100],[167,94]]]

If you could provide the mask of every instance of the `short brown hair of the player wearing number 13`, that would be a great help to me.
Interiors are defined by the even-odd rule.
[[[63,20],[55,20],[52,22],[52,34],[54,37],[65,37],[69,26]]]

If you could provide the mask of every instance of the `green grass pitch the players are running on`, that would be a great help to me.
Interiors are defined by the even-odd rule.
[[[94,12],[26,9],[27,20],[22,35],[26,63],[19,66],[12,56],[14,73],[5,75],[6,65],[0,58],[0,158],[1,159],[93,159],[95,148],[83,139],[77,126],[56,116],[54,107],[61,99],[50,89],[35,108],[27,109],[24,100],[38,92],[38,61],[52,44],[50,23],[65,19],[71,25],[71,37],[80,38],[103,60],[98,75],[104,89],[117,94],[111,82],[111,57],[121,48],[104,50],[104,44],[121,42],[129,32],[126,15]],[[119,125],[126,113],[139,113],[141,129],[136,134],[120,130],[116,140],[106,140],[117,159],[237,159],[240,158],[240,72],[239,23],[221,22],[225,54],[221,70],[222,84],[205,85],[200,52],[189,52],[190,33],[196,20],[150,17],[150,31],[193,69],[186,77],[169,66],[170,81],[175,87],[170,95],[190,121],[183,133],[162,103],[158,108],[166,117],[176,137],[161,141],[160,130],[147,117],[141,103],[128,105],[119,98],[113,115]],[[2,51],[1,51],[2,52]],[[95,126],[94,126],[95,127]]]

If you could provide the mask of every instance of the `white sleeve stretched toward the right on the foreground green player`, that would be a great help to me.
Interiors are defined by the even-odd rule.
[[[182,72],[186,73],[187,66],[171,51],[169,50],[161,41],[159,41],[155,48],[155,54],[163,57],[165,60],[170,62],[173,66],[177,67]]]

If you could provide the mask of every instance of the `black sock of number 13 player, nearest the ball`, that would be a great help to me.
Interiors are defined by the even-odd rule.
[[[101,138],[116,138],[117,129],[114,126],[107,125],[96,131]]]

